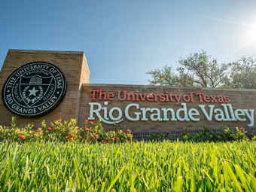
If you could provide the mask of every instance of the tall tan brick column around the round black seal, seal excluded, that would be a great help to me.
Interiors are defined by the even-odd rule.
[[[61,104],[51,111],[38,118],[24,118],[12,114],[5,108],[0,99],[0,125],[10,126],[11,117],[17,117],[17,125],[24,126],[28,123],[34,124],[35,127],[41,125],[42,120],[50,121],[62,119],[70,120],[76,118],[80,110],[81,87],[82,84],[88,84],[90,70],[87,66],[87,60],[84,52],[77,51],[51,51],[51,50],[8,50],[2,71],[0,72],[0,91],[2,97],[2,87],[6,79],[15,69],[29,62],[50,62],[57,66],[66,77],[67,91],[66,96]]]

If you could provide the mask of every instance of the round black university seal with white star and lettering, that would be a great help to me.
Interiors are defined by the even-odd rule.
[[[66,93],[66,78],[48,62],[30,62],[5,81],[5,107],[21,117],[40,117],[56,108]]]

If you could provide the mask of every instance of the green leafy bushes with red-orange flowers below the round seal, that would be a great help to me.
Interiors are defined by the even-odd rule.
[[[8,126],[0,126],[0,137],[8,142],[32,142],[37,140],[59,141],[59,142],[88,142],[88,143],[117,143],[131,142],[133,135],[130,130],[123,132],[123,128],[117,130],[114,123],[114,131],[105,132],[101,120],[96,123],[85,120],[84,128],[76,126],[76,120],[70,121],[61,119],[50,122],[47,126],[45,120],[38,130],[33,130],[33,125],[17,128],[15,117],[11,119],[11,129]]]

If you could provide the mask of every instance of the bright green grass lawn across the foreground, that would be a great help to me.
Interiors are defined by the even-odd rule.
[[[256,142],[0,143],[0,191],[256,191]]]

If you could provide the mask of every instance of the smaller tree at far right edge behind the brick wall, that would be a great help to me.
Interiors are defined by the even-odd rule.
[[[225,87],[239,89],[255,89],[256,88],[256,61],[251,57],[242,56],[236,62],[229,63],[230,78]]]

